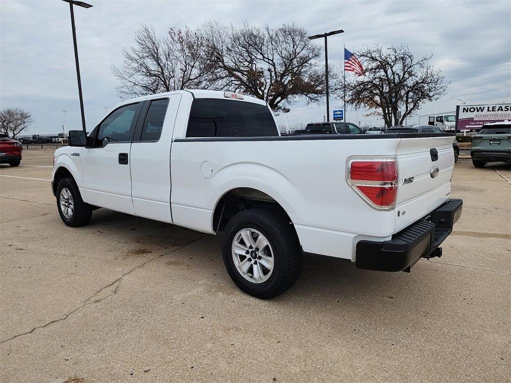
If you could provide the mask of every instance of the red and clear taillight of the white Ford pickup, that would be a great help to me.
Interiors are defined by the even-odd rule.
[[[396,160],[354,159],[349,162],[348,182],[371,207],[392,210],[398,194]]]

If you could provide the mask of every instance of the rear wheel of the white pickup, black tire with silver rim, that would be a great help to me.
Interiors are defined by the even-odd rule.
[[[225,227],[225,268],[245,293],[270,299],[288,290],[301,269],[301,251],[292,224],[280,212],[248,209]]]

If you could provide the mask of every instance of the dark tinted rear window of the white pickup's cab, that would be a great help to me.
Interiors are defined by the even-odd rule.
[[[268,107],[244,101],[195,99],[187,137],[278,136]]]

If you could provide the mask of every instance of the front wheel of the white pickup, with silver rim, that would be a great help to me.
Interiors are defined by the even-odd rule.
[[[92,217],[92,207],[83,202],[72,178],[63,178],[57,185],[57,209],[62,222],[71,227],[84,226]]]

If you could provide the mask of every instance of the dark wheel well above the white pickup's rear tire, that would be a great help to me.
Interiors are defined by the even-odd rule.
[[[286,210],[272,197],[260,190],[250,187],[238,187],[225,193],[220,198],[213,211],[213,231],[218,232],[225,228],[227,223],[240,211],[261,208],[283,214],[292,223]]]

